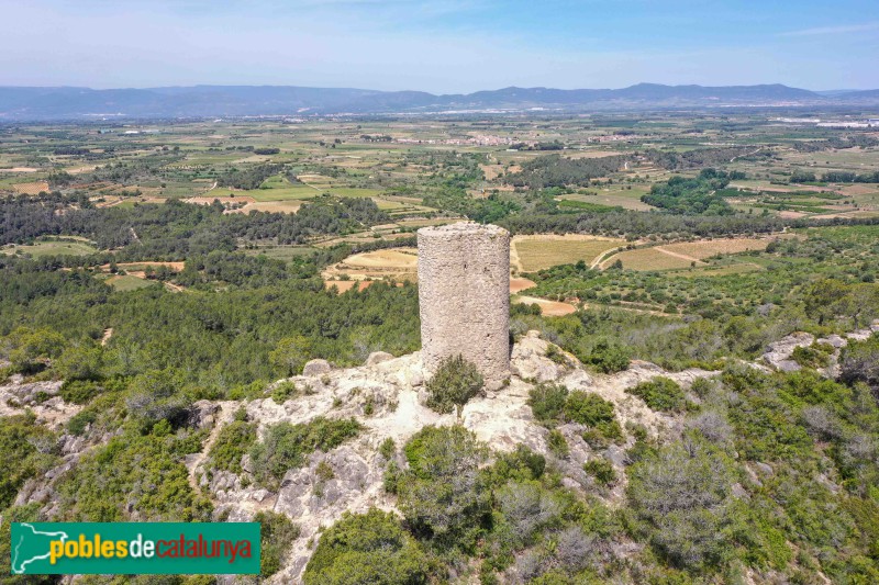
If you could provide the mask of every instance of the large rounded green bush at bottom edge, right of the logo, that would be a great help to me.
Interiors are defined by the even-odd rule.
[[[305,585],[419,585],[429,582],[430,558],[393,514],[346,511],[321,536]]]

